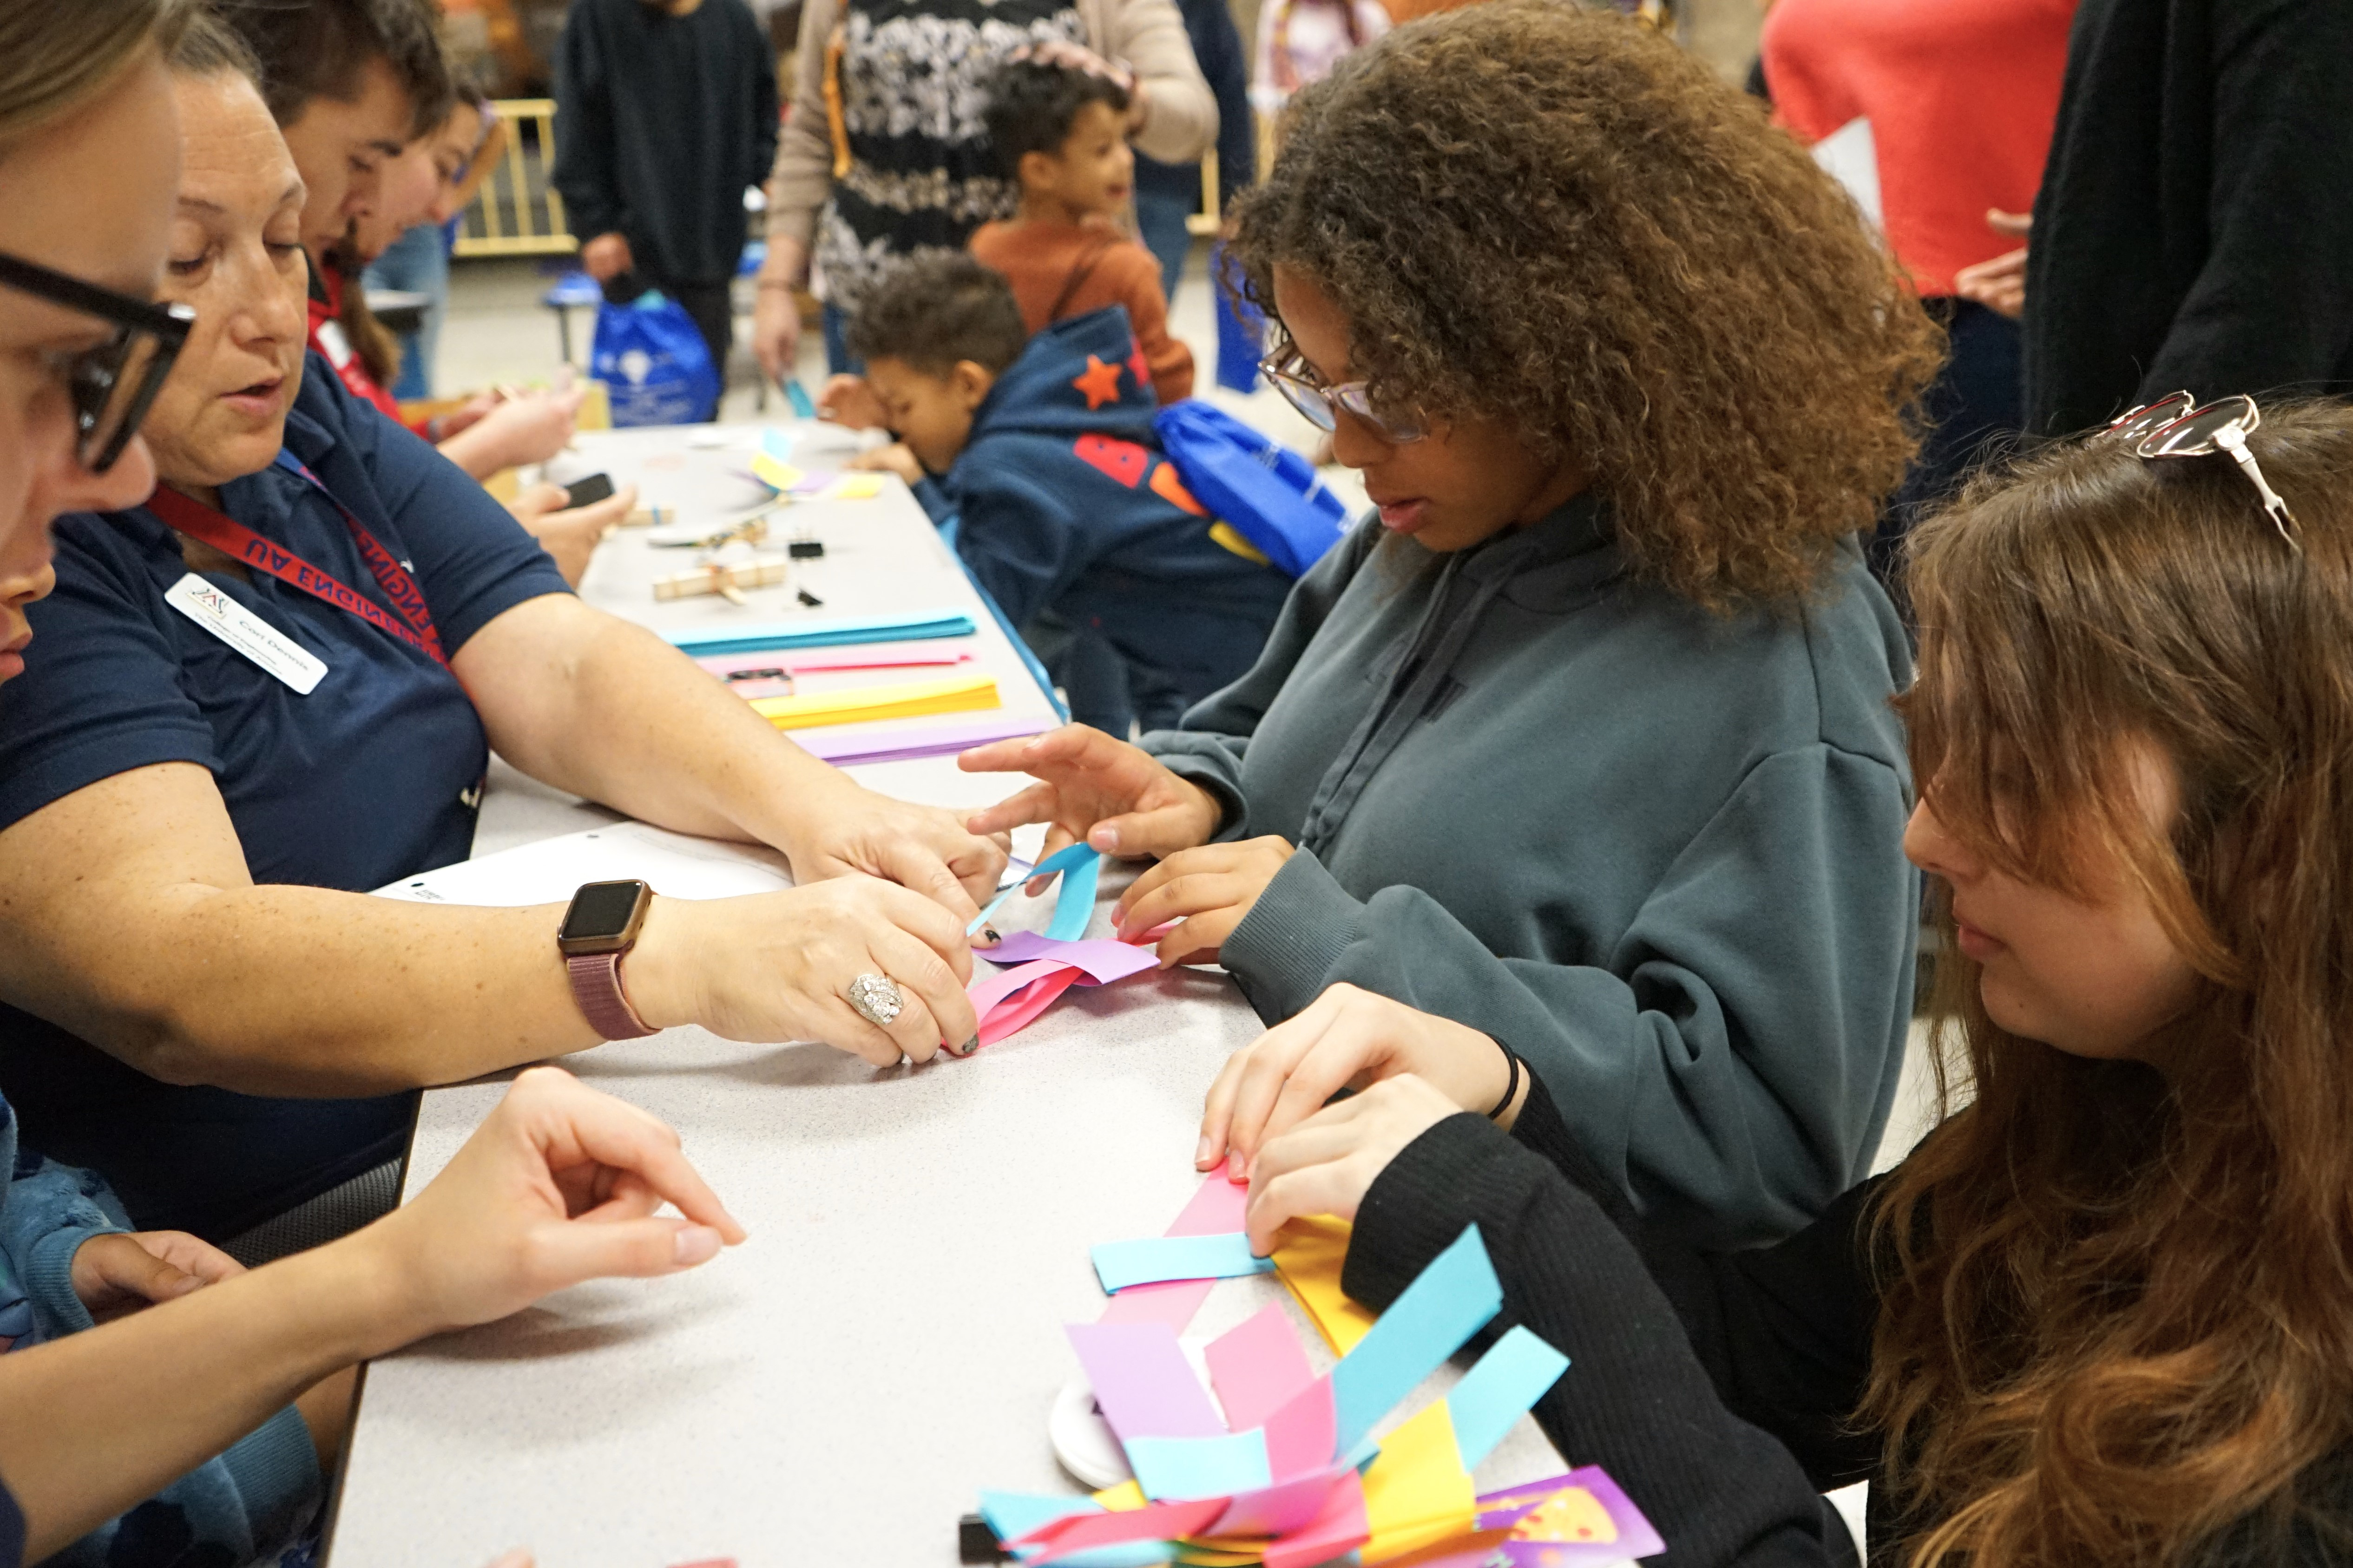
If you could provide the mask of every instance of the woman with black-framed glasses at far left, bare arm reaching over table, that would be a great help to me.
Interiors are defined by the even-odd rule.
[[[49,522],[155,487],[139,414],[191,329],[151,303],[179,176],[155,35],[179,12],[0,0],[0,682],[49,590]],[[654,1218],[661,1197],[687,1218]],[[325,1490],[355,1361],[741,1237],[668,1128],[553,1070],[398,1215],[254,1272],[129,1232],[0,1100],[0,1568],[268,1559]]]

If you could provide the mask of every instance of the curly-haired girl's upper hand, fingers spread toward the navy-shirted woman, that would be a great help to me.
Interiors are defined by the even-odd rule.
[[[1151,752],[1085,724],[1028,741],[976,745],[955,759],[967,773],[1028,773],[1028,790],[974,813],[972,832],[1047,823],[1040,860],[1085,839],[1106,856],[1172,856],[1217,835],[1217,797],[1176,776]],[[1031,893],[1045,891],[1042,879]]]

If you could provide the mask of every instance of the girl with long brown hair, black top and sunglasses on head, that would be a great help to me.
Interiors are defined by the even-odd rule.
[[[1506,1138],[1400,1074],[1259,1154],[1252,1237],[1355,1215],[1372,1307],[1475,1220],[1675,1563],[1842,1556],[1859,1479],[1911,1568],[2353,1556],[2353,411],[2181,411],[1913,541],[1972,1098],[1901,1166],[1708,1255],[1534,1095]]]

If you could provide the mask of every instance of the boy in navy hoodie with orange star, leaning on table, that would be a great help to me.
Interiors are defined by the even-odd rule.
[[[904,477],[1014,625],[1052,609],[1071,717],[1127,738],[1172,729],[1242,677],[1289,578],[1186,491],[1153,433],[1127,315],[1106,306],[1031,336],[1005,277],[972,256],[911,261],[849,327],[882,423],[864,458]]]

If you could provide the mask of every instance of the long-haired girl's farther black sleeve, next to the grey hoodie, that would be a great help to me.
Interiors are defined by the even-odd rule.
[[[1878,1439],[1852,1432],[1847,1420],[1871,1375],[1878,1291],[1864,1225],[1878,1180],[1840,1194],[1786,1241],[1704,1253],[1635,1218],[1626,1194],[1569,1135],[1544,1079],[1529,1084],[1511,1135],[1551,1161],[1642,1255],[1715,1396],[1734,1415],[1781,1439],[1821,1490],[1878,1469]]]

